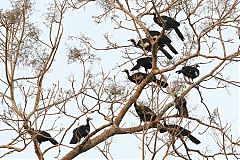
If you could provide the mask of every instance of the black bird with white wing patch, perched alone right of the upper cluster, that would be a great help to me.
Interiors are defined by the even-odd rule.
[[[199,67],[198,64],[195,64],[194,66],[184,66],[181,70],[176,71],[176,73],[182,73],[184,76],[188,77],[193,81],[193,79],[198,77],[200,74],[197,67]]]

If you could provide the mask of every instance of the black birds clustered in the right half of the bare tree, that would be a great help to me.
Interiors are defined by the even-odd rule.
[[[164,30],[173,29],[177,33],[178,37],[184,41],[184,36],[181,33],[181,31],[178,29],[180,26],[180,23],[174,20],[171,17],[168,16],[160,16],[158,17],[156,13],[153,13],[153,21],[157,23],[160,27],[162,27]],[[169,54],[165,49],[164,46],[168,46],[168,48],[174,53],[175,55],[178,54],[177,50],[171,45],[171,39],[169,39],[166,35],[162,34],[158,31],[149,31],[149,34],[153,38],[154,41],[157,40],[157,50],[160,50],[165,57],[168,59],[173,59],[172,55]],[[150,43],[150,40],[148,38],[140,39],[138,42],[136,42],[134,39],[130,39],[130,42],[135,47],[138,47],[142,49],[145,52],[151,52],[152,45]],[[148,54],[146,54],[148,55]],[[140,67],[143,67],[145,69],[146,73],[142,72],[136,72],[130,75],[129,71],[127,69],[123,70],[123,72],[127,73],[128,79],[136,84],[140,84],[147,76],[148,76],[148,69],[152,68],[152,57],[147,56],[143,58],[139,58],[136,61],[136,65],[130,69],[130,71],[138,70]],[[199,67],[197,64],[194,66],[184,66],[181,70],[176,71],[178,74],[183,74],[185,77],[189,79],[189,82],[193,79],[199,76],[199,70],[197,69]],[[151,80],[151,82],[157,83],[159,86],[166,88],[168,86],[167,82],[158,80],[155,76]],[[180,117],[188,117],[188,109],[187,109],[187,101],[184,97],[178,97],[175,95],[174,99],[174,106],[178,110],[178,116]],[[137,112],[137,115],[140,118],[140,124],[141,122],[152,122],[155,121],[157,118],[156,113],[154,113],[153,110],[151,110],[149,107],[140,104],[139,102],[134,103],[135,110]],[[169,132],[172,136],[178,137],[182,139],[182,137],[186,136],[188,137],[193,143],[199,144],[201,143],[196,137],[194,137],[191,134],[191,131],[175,124],[166,124],[165,120],[161,128],[159,129],[160,133]]]

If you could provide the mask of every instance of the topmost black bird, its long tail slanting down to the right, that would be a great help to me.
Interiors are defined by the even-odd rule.
[[[161,19],[165,22],[165,27],[166,29],[174,29],[175,32],[177,33],[178,37],[184,41],[184,37],[183,37],[183,34],[181,33],[181,31],[178,29],[178,27],[180,26],[180,23],[177,22],[175,19],[171,18],[171,17],[168,17],[168,16],[161,16],[161,19],[159,17],[157,17],[157,14],[156,13],[153,13],[153,21],[155,23],[157,23],[160,27],[163,27],[163,23],[161,21]]]

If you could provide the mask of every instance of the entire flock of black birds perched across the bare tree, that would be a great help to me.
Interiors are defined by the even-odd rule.
[[[183,34],[178,29],[180,26],[180,23],[174,20],[171,17],[167,16],[160,16],[158,17],[156,13],[154,15],[154,22],[157,23],[160,27],[168,30],[168,29],[174,29],[177,33],[178,37],[184,41]],[[172,59],[173,57],[171,54],[169,54],[163,47],[168,46],[168,48],[174,53],[178,54],[176,49],[171,45],[171,40],[166,35],[160,35],[160,32],[158,31],[149,31],[150,35],[153,37],[154,40],[157,40],[157,49],[160,50],[168,59]],[[134,39],[130,39],[130,41],[133,43],[135,47],[141,48],[144,52],[151,52],[152,46],[148,38],[144,38],[136,42]],[[130,75],[129,71],[127,69],[123,70],[123,72],[127,73],[128,79],[135,83],[140,84],[147,76],[148,76],[148,69],[152,68],[152,57],[144,57],[137,60],[137,64],[130,69],[130,71],[138,70],[140,67],[145,68],[146,73],[142,72],[136,72]],[[184,66],[181,70],[178,70],[176,73],[180,74],[182,73],[184,76],[188,77],[189,80],[192,80],[199,76],[199,70],[196,66]],[[156,76],[153,76],[151,82],[156,83],[160,87],[166,88],[168,86],[168,83],[162,80],[159,80],[156,78]],[[174,100],[175,108],[178,110],[178,115],[181,117],[188,117],[188,110],[186,107],[186,99],[175,97]],[[151,122],[156,120],[157,115],[153,112],[149,107],[141,105],[138,102],[134,103],[135,110],[137,112],[137,115],[140,118],[141,122]],[[92,120],[91,118],[86,119],[86,125],[81,125],[73,130],[73,137],[70,141],[70,144],[76,144],[80,142],[81,138],[86,137],[90,132],[90,125],[89,121]],[[26,128],[25,128],[26,129]],[[186,130],[178,125],[167,125],[164,121],[164,124],[159,129],[160,133],[169,132],[171,135],[175,137],[183,137],[187,136],[193,143],[199,144],[201,143],[197,138],[191,135],[191,132],[189,130]],[[49,133],[46,131],[41,130],[33,130],[32,128],[28,130],[28,132],[36,138],[36,140],[41,144],[45,141],[50,141],[53,145],[59,144],[54,138],[51,137]]]

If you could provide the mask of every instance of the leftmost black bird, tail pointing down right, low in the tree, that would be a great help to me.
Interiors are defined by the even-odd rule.
[[[32,136],[36,136],[36,139],[38,141],[39,144],[41,144],[42,142],[46,142],[46,141],[50,141],[53,145],[59,144],[55,139],[52,138],[52,136],[47,133],[46,131],[41,131],[41,130],[33,130],[30,129],[29,133]]]

